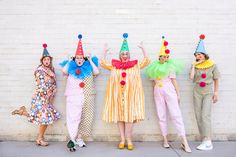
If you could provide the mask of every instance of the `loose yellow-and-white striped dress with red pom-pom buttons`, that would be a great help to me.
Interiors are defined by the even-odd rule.
[[[101,60],[101,66],[111,71],[102,117],[104,121],[133,123],[144,119],[144,92],[140,69],[149,63],[150,59],[145,57],[128,69],[118,69]],[[125,82],[123,85],[122,81]]]

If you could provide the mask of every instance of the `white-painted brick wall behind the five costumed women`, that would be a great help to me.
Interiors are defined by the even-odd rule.
[[[200,33],[206,34],[206,49],[219,65],[220,101],[213,108],[214,139],[236,139],[236,2],[234,0],[1,0],[0,1],[0,139],[33,140],[37,128],[23,117],[11,116],[21,104],[30,107],[34,89],[33,71],[39,64],[42,43],[54,57],[58,80],[56,108],[63,117],[47,130],[47,138],[65,140],[65,79],[58,63],[74,54],[77,34],[83,34],[86,53],[101,56],[108,43],[118,56],[122,33],[129,33],[132,58],[141,59],[140,41],[152,60],[157,58],[161,36],[169,41],[173,57],[186,60],[184,73],[178,77],[181,109],[190,139],[197,135],[188,70]],[[227,63],[227,64],[226,64]],[[227,67],[227,68],[225,68]],[[94,124],[95,140],[117,140],[115,124],[101,120],[108,71],[96,79],[97,99]],[[136,140],[158,140],[160,132],[153,103],[151,83],[143,77],[146,120],[136,124]],[[174,134],[173,125],[170,133]]]

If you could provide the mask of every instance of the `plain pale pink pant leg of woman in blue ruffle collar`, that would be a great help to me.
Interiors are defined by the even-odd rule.
[[[75,140],[81,120],[84,95],[72,95],[66,98],[66,123],[71,140]]]

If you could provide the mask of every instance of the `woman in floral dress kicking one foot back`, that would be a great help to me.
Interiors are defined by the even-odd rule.
[[[13,115],[23,115],[28,121],[39,125],[39,135],[36,143],[40,146],[47,146],[44,141],[44,133],[47,126],[58,120],[61,115],[53,106],[53,100],[56,94],[56,75],[52,65],[52,57],[48,53],[47,44],[43,44],[44,51],[41,64],[34,72],[36,89],[34,91],[30,112],[27,112],[25,106],[12,112]]]

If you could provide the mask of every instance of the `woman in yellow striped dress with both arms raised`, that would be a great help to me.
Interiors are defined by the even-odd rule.
[[[119,60],[113,59],[111,64],[106,61],[108,52],[104,47],[104,57],[101,66],[111,71],[107,84],[103,120],[118,124],[121,141],[119,148],[124,149],[127,140],[128,150],[133,150],[132,127],[133,123],[144,120],[144,92],[140,76],[140,69],[150,62],[143,48],[144,59],[142,61],[130,60],[130,52],[127,43],[128,34],[123,34],[124,41],[120,50]]]

